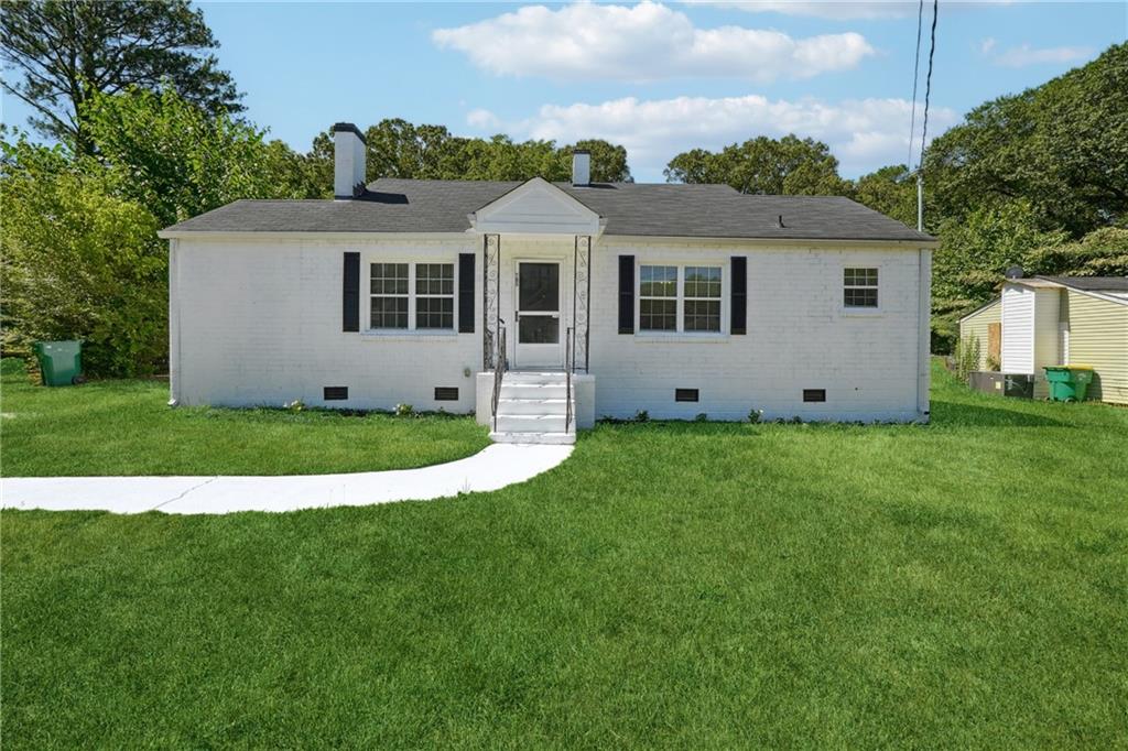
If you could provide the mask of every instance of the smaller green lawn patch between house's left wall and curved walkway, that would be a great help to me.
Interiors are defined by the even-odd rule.
[[[485,448],[473,417],[325,410],[169,409],[168,383],[33,383],[5,361],[0,472],[52,475],[306,475],[423,467]]]

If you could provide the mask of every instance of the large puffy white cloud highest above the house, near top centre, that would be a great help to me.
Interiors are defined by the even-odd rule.
[[[437,29],[432,39],[493,73],[554,79],[770,81],[854,68],[874,54],[853,32],[796,39],[741,26],[700,29],[685,14],[650,1],[633,7],[580,2],[558,10],[526,6]]]

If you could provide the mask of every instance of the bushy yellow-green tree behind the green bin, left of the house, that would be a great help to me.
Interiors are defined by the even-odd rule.
[[[89,373],[151,372],[167,353],[168,266],[158,222],[60,148],[3,143],[3,346],[85,341]]]

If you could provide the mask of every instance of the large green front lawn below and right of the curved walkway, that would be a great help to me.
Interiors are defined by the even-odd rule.
[[[933,415],[603,425],[433,503],[5,513],[5,746],[1123,746],[1128,410],[937,372]]]

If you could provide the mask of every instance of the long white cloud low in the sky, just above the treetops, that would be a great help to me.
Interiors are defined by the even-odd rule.
[[[918,108],[920,105],[917,105]],[[531,117],[508,124],[520,138],[574,142],[601,138],[627,149],[631,168],[643,180],[661,179],[662,168],[691,148],[720,149],[757,135],[795,133],[828,143],[841,171],[856,176],[908,157],[911,103],[905,99],[770,100],[743,97],[635,97],[600,104],[545,105]],[[917,140],[922,113],[917,113]],[[943,107],[928,114],[928,132],[940,134],[958,116]],[[919,149],[919,144],[916,147]]]

